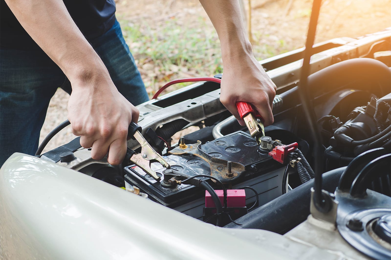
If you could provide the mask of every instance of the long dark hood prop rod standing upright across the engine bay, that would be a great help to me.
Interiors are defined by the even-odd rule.
[[[308,127],[314,141],[314,157],[315,157],[315,172],[316,178],[314,180],[314,202],[318,210],[323,210],[325,202],[322,199],[322,173],[323,173],[323,151],[321,151],[321,135],[316,123],[315,110],[312,105],[313,97],[310,97],[312,90],[308,89],[308,75],[310,74],[310,58],[312,56],[314,45],[317,20],[319,18],[319,11],[321,7],[321,0],[314,0],[312,4],[312,12],[310,22],[308,25],[307,40],[305,42],[303,65],[301,66],[300,82],[298,85],[299,96],[303,106],[305,118],[307,119]]]

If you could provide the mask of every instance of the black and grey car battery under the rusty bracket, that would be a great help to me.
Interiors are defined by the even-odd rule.
[[[282,195],[282,177],[285,166],[273,160],[267,152],[260,152],[256,140],[249,134],[238,131],[214,141],[207,142],[201,149],[209,156],[241,163],[246,170],[242,173],[236,183],[230,185],[233,188],[251,186],[256,189],[260,196],[260,205]],[[195,155],[183,154],[163,156],[170,164],[174,172],[181,172],[181,175],[210,175],[210,164]],[[158,176],[163,175],[163,168],[160,163],[151,163],[151,168]],[[167,207],[174,208],[195,218],[202,218],[204,207],[205,191],[200,187],[187,184],[167,187],[154,180],[141,168],[130,165],[124,168],[125,180],[128,184],[140,188],[149,195],[151,200],[159,202]],[[200,177],[208,180],[209,178]],[[214,189],[221,189],[218,185],[208,180]],[[226,184],[228,187],[228,184]],[[248,192],[246,203],[253,203],[255,194]]]

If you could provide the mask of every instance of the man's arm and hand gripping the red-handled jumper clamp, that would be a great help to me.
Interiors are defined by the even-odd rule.
[[[224,76],[221,103],[240,120],[235,103],[253,104],[273,124],[272,103],[276,85],[256,61],[243,24],[238,0],[199,0],[215,27],[221,42]],[[241,122],[244,125],[244,122]]]

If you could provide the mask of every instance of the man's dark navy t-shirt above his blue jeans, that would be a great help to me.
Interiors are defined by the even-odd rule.
[[[4,0],[0,0],[0,46],[33,48],[31,39]],[[107,32],[115,22],[114,0],[63,0],[77,27],[87,39]]]

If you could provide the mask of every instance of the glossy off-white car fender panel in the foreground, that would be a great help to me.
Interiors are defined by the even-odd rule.
[[[218,228],[15,153],[0,170],[4,259],[341,259],[265,230]]]

